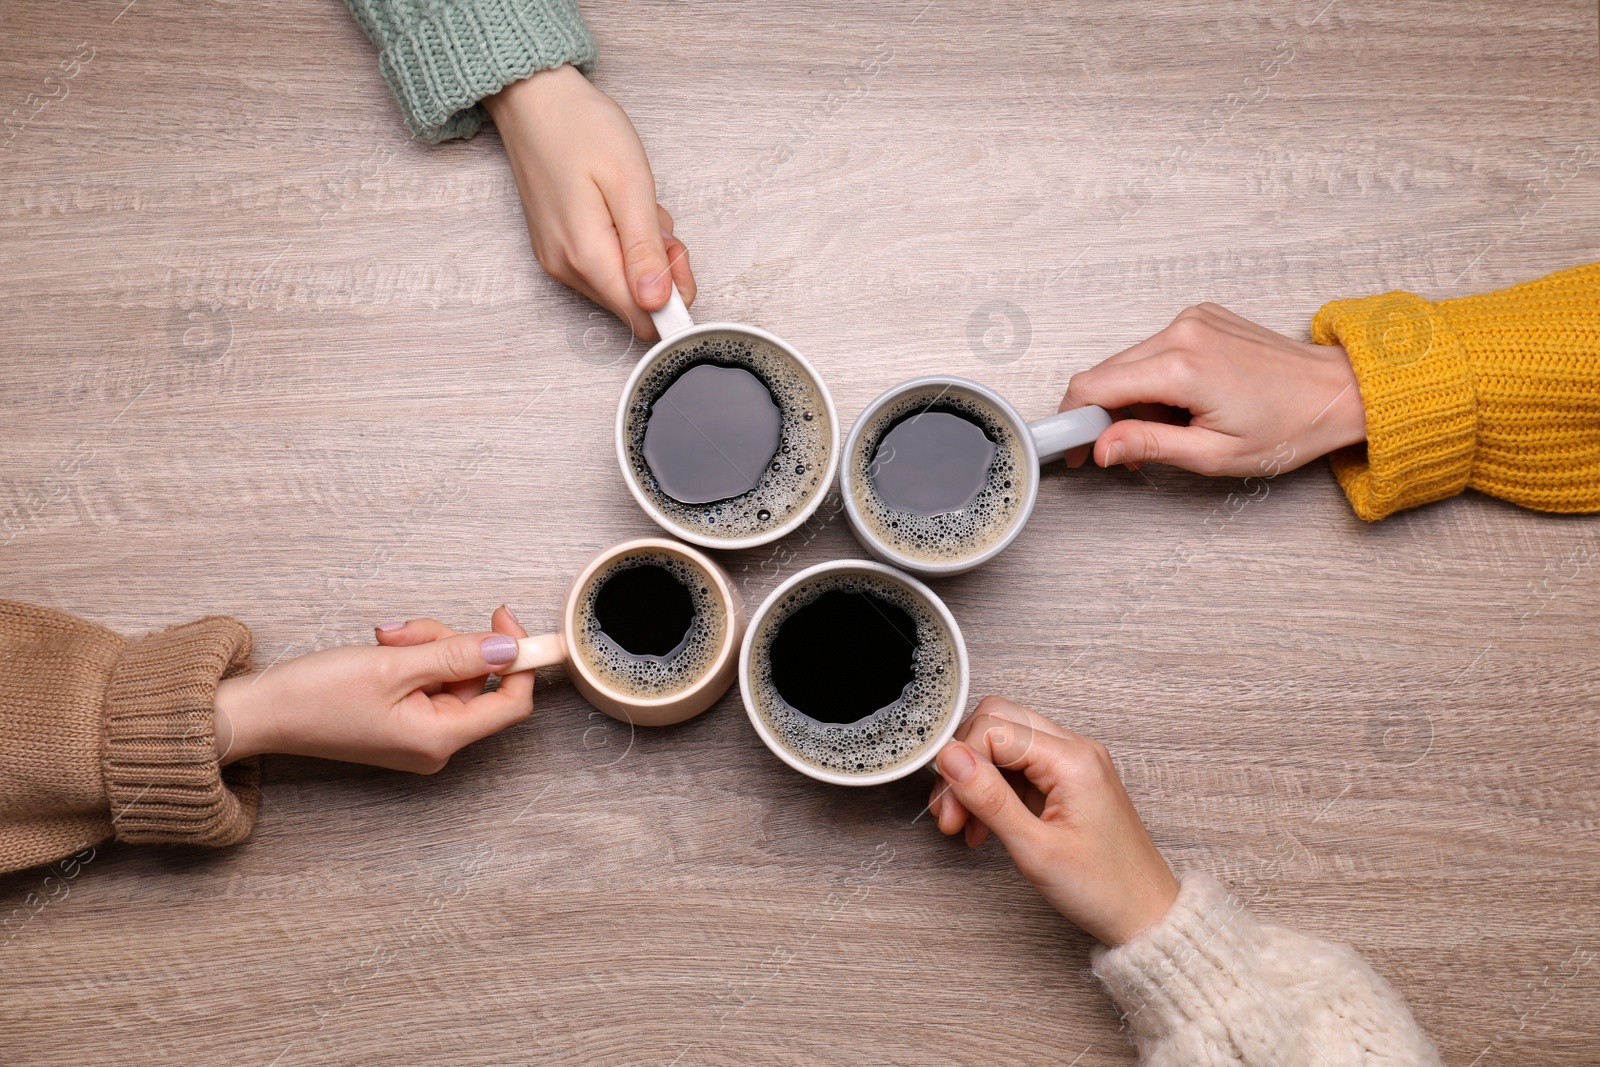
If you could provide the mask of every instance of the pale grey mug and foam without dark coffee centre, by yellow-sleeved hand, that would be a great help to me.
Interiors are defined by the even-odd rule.
[[[978,509],[933,517],[896,512],[870,482],[877,450],[888,429],[934,406],[989,422],[995,442],[990,467],[995,493]],[[960,574],[1005,550],[1027,525],[1038,498],[1038,467],[1069,448],[1093,443],[1112,422],[1104,408],[1085,406],[1027,422],[1000,394],[965,378],[931,376],[901,382],[874,400],[845,440],[840,494],[850,530],[878,560],[923,577]],[[995,440],[1000,438],[1000,440]]]

